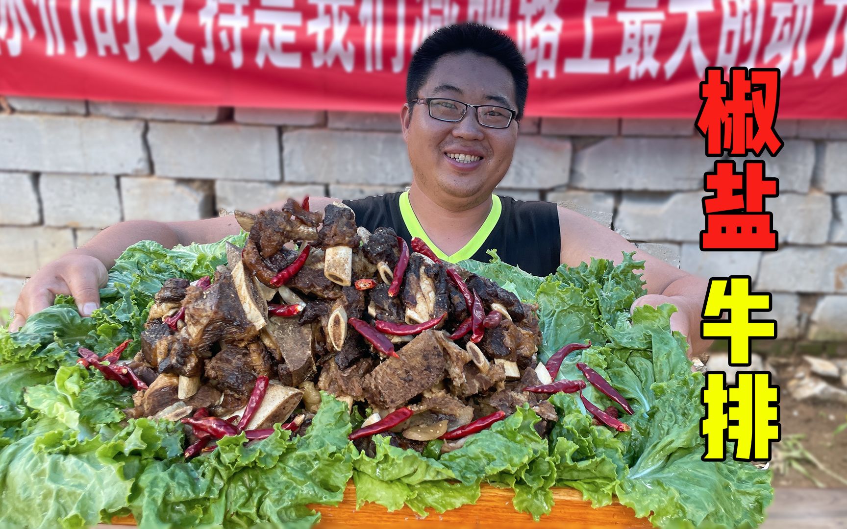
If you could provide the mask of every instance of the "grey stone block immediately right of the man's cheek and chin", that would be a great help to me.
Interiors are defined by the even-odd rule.
[[[545,136],[518,139],[512,165],[500,185],[508,189],[551,189],[567,185],[571,142]]]

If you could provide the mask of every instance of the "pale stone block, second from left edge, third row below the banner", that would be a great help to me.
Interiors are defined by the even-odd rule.
[[[113,176],[42,174],[38,187],[47,226],[105,228],[121,220]]]

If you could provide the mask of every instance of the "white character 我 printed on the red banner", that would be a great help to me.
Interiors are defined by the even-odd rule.
[[[309,35],[318,36],[318,49],[312,52],[312,64],[315,68],[320,68],[326,64],[332,66],[335,59],[338,58],[341,66],[346,72],[352,72],[353,60],[356,47],[352,42],[345,42],[344,37],[347,33],[347,28],[350,26],[350,15],[341,8],[353,8],[356,3],[354,0],[309,0],[309,3],[318,6],[318,17],[307,22],[307,32]],[[329,8],[329,13],[326,9]],[[329,40],[329,46],[326,45],[326,32],[332,30],[332,37]]]

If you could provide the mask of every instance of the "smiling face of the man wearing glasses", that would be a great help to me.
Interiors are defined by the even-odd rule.
[[[440,58],[416,96],[518,110],[509,70],[493,58],[473,52]],[[450,209],[468,209],[488,198],[506,175],[518,141],[514,119],[507,129],[491,129],[479,124],[476,109],[470,107],[462,121],[449,123],[431,118],[425,104],[414,105],[411,113],[407,104],[402,122],[415,184],[431,200]],[[448,157],[457,153],[482,159],[462,163]]]

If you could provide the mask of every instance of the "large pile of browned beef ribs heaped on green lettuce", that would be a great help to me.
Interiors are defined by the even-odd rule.
[[[401,259],[396,234],[357,228],[352,210],[340,204],[326,207],[324,216],[290,200],[281,210],[236,218],[249,238],[243,249],[230,245],[228,264],[218,267],[211,284],[172,278],[155,296],[141,352],[130,363],[149,388],[135,395],[130,417],[178,421],[200,408],[239,415],[257,377],[267,376],[271,384],[250,427],[285,422],[295,411],[307,426],[320,403],[318,389],[380,416],[411,408],[414,415],[389,434],[392,444],[413,449],[528,402],[543,419],[541,433],[556,420],[545,395],[521,390],[550,382],[535,355],[535,306],[418,252],[408,254],[400,290],[390,295]],[[291,275],[298,259],[302,267]],[[499,313],[499,323],[484,328],[478,343],[472,333],[450,338],[470,307],[448,267],[479,295],[486,314]],[[445,314],[423,332],[385,334],[396,356],[380,352],[349,323],[407,325]]]

